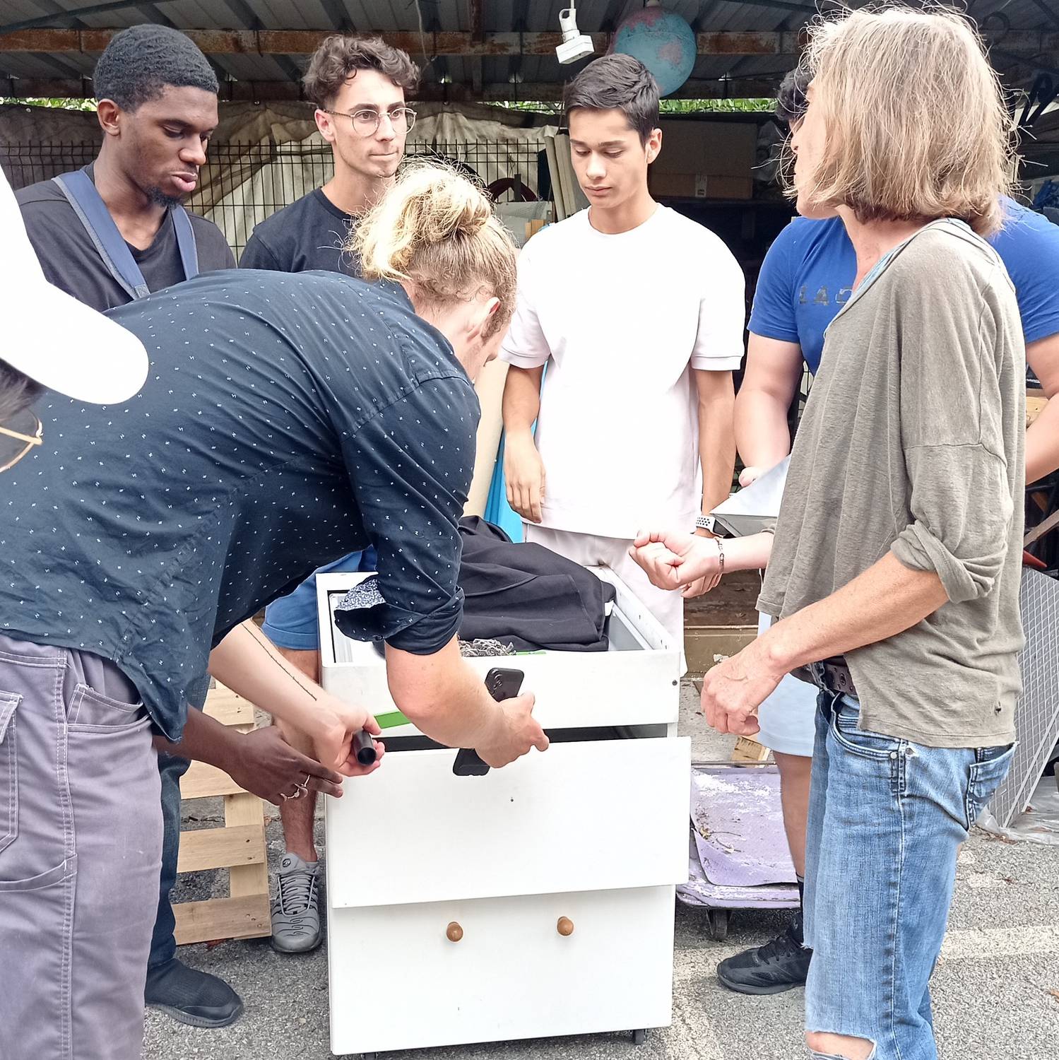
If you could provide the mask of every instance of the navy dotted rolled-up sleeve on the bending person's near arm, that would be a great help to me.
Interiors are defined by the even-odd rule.
[[[470,381],[427,379],[343,440],[385,604],[343,615],[342,630],[416,655],[459,631],[458,522],[475,458],[478,402]]]

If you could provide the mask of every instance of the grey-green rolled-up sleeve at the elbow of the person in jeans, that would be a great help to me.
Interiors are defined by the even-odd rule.
[[[915,522],[890,546],[913,570],[932,570],[953,602],[992,589],[1008,550],[1013,505],[1004,461],[982,445],[905,453]]]

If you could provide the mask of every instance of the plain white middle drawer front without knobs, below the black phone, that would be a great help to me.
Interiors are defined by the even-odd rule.
[[[681,883],[686,738],[557,743],[484,777],[388,754],[326,801],[333,908]]]

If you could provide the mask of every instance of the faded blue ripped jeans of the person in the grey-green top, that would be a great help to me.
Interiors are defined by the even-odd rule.
[[[806,1029],[875,1043],[875,1060],[936,1060],[929,983],[956,852],[1013,747],[925,747],[858,728],[822,692],[806,836]]]

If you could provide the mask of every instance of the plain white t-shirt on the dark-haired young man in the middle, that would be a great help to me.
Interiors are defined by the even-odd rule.
[[[691,369],[743,356],[742,269],[709,229],[659,206],[607,235],[582,210],[518,259],[518,298],[500,356],[548,363],[536,446],[542,525],[605,537],[688,530],[702,507]]]

